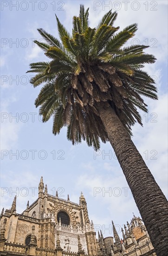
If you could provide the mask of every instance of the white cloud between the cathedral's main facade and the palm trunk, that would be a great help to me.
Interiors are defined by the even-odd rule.
[[[110,165],[104,163],[103,166],[109,170]],[[104,234],[108,235],[111,227],[111,220],[115,224],[122,226],[130,220],[131,212],[140,215],[136,204],[128,187],[123,174],[114,176],[107,173],[102,168],[102,175],[97,174],[97,166],[92,165],[93,173],[79,175],[77,184],[86,193],[89,193],[89,201],[92,202],[88,209],[90,219],[93,220],[96,227],[103,229]],[[116,170],[116,173],[118,170]],[[98,214],[95,214],[98,212]],[[105,230],[106,228],[109,230]],[[120,229],[121,231],[121,229]]]

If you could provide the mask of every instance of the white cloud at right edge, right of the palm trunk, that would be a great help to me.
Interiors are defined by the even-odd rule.
[[[167,109],[168,94],[161,94],[159,101],[149,102],[149,114],[142,115],[144,127],[136,125],[133,128],[133,141],[166,196],[168,196]]]

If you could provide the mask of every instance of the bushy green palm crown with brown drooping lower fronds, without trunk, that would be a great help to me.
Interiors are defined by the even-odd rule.
[[[137,111],[147,112],[142,96],[157,99],[155,82],[142,67],[154,63],[155,57],[143,52],[148,46],[123,47],[135,35],[137,24],[117,32],[117,13],[109,11],[96,28],[90,28],[88,16],[89,8],[85,11],[81,5],[79,17],[73,17],[72,35],[56,16],[60,40],[38,29],[46,43],[35,43],[51,61],[32,63],[27,72],[38,73],[31,79],[34,87],[45,82],[35,105],[41,106],[44,122],[53,115],[53,134],[67,126],[73,144],[83,138],[97,149],[99,139],[109,140],[99,108],[113,108],[129,134],[136,121],[142,125]]]

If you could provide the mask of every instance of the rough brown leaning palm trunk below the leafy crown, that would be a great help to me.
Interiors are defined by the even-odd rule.
[[[168,256],[168,201],[114,110],[99,108],[99,114],[156,254]]]

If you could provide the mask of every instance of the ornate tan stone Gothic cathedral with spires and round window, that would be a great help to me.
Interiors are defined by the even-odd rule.
[[[11,209],[0,215],[0,255],[6,256],[156,256],[148,232],[139,217],[124,225],[122,238],[114,223],[113,237],[96,234],[83,193],[79,203],[49,195],[43,177],[39,197],[22,214]],[[96,238],[96,235],[98,239]]]

